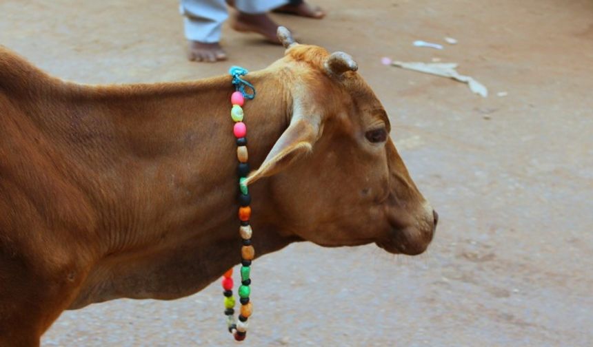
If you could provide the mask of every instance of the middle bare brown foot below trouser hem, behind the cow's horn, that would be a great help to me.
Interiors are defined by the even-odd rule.
[[[271,43],[280,44],[276,36],[278,24],[266,12],[284,6],[288,0],[234,0],[239,11],[232,18],[231,26],[240,32],[257,32]]]

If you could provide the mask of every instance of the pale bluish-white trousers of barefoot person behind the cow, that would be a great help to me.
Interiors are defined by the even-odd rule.
[[[235,0],[237,10],[250,14],[268,12],[289,0]],[[221,28],[228,18],[225,0],[181,0],[179,11],[185,18],[185,38],[203,43],[219,42]]]

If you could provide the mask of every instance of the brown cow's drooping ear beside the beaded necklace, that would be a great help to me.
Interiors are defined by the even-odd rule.
[[[319,138],[320,126],[317,118],[294,115],[290,125],[277,140],[259,169],[253,171],[245,184],[272,176],[289,167],[295,160],[310,153]]]

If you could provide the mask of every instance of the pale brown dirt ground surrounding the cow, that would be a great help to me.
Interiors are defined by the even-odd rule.
[[[323,21],[274,18],[354,56],[441,221],[419,257],[306,243],[262,257],[244,346],[593,346],[593,1],[317,2]],[[257,70],[283,53],[225,27],[230,61],[190,63],[181,24],[175,0],[0,1],[0,44],[82,83]],[[459,63],[490,96],[382,56]],[[232,346],[220,291],[69,311],[43,346]]]

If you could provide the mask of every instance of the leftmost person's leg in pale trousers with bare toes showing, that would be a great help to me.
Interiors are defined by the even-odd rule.
[[[224,0],[181,0],[185,38],[189,42],[188,59],[221,61],[226,54],[220,46],[222,23],[228,18]]]

